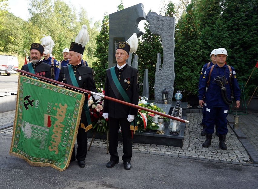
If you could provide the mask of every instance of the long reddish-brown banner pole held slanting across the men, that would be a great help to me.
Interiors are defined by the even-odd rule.
[[[91,95],[98,95],[98,96],[100,96],[104,99],[115,101],[115,102],[125,104],[127,106],[131,106],[131,107],[141,109],[141,110],[144,110],[144,111],[148,111],[148,112],[151,112],[153,114],[157,114],[157,115],[160,115],[160,116],[163,116],[163,117],[167,117],[167,118],[170,118],[170,119],[173,119],[173,120],[180,121],[182,123],[189,123],[189,121],[187,121],[187,120],[183,120],[183,119],[180,119],[180,118],[177,118],[177,117],[174,117],[174,116],[170,116],[170,115],[167,115],[167,114],[163,114],[161,112],[154,111],[154,110],[151,110],[151,109],[148,109],[148,108],[145,108],[145,107],[141,107],[141,106],[131,104],[131,103],[128,103],[128,102],[125,102],[125,101],[121,101],[121,100],[118,100],[118,99],[115,99],[115,98],[111,98],[111,97],[108,97],[108,96],[105,96],[105,95],[102,95],[102,94],[98,94],[98,93],[95,93],[95,92],[92,92],[92,91],[88,91],[86,89],[82,89],[82,88],[79,88],[79,87],[74,87],[72,85],[68,85],[68,84],[65,84],[65,83],[62,83],[62,82],[58,82],[58,81],[55,81],[53,79],[48,79],[48,78],[42,77],[40,75],[35,75],[35,74],[30,73],[30,72],[25,72],[25,71],[22,71],[20,69],[16,69],[15,71],[23,73],[25,75],[30,75],[30,76],[33,76],[33,77],[37,77],[37,78],[40,78],[42,80],[45,80],[45,81],[48,81],[48,82],[51,82],[51,83],[55,83],[55,84],[58,84],[58,85],[64,85],[65,87],[75,89],[77,91],[82,91],[82,92],[85,92],[85,93],[88,93],[88,94],[91,94]]]

